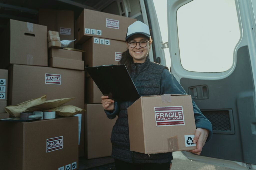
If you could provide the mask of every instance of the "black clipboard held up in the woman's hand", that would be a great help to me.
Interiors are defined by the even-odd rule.
[[[140,98],[124,64],[86,67],[86,71],[104,96],[117,102],[136,101]]]

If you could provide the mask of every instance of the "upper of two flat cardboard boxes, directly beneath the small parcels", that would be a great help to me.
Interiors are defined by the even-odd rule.
[[[73,60],[82,60],[81,51],[51,48],[48,58],[59,57]]]

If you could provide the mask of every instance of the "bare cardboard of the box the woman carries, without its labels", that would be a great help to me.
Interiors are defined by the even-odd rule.
[[[141,101],[140,101],[141,100]],[[185,125],[156,126],[154,107],[182,106]],[[140,118],[142,115],[142,119]],[[185,146],[185,135],[195,135],[195,118],[190,95],[171,96],[163,103],[161,96],[144,96],[128,108],[130,149],[146,154],[193,150]],[[136,133],[141,132],[143,137]],[[169,141],[177,141],[173,145]],[[143,148],[144,145],[144,148]],[[138,148],[140,146],[140,148]]]

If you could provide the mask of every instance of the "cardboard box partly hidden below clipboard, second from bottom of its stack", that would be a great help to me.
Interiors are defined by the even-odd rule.
[[[101,103],[101,93],[98,86],[94,83],[91,77],[86,78],[85,83],[85,102],[86,103]]]

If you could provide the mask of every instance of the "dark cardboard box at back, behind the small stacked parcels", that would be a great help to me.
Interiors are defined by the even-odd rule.
[[[38,23],[46,25],[48,31],[58,31],[61,40],[74,40],[73,11],[39,9]],[[74,48],[74,42],[68,47]]]

